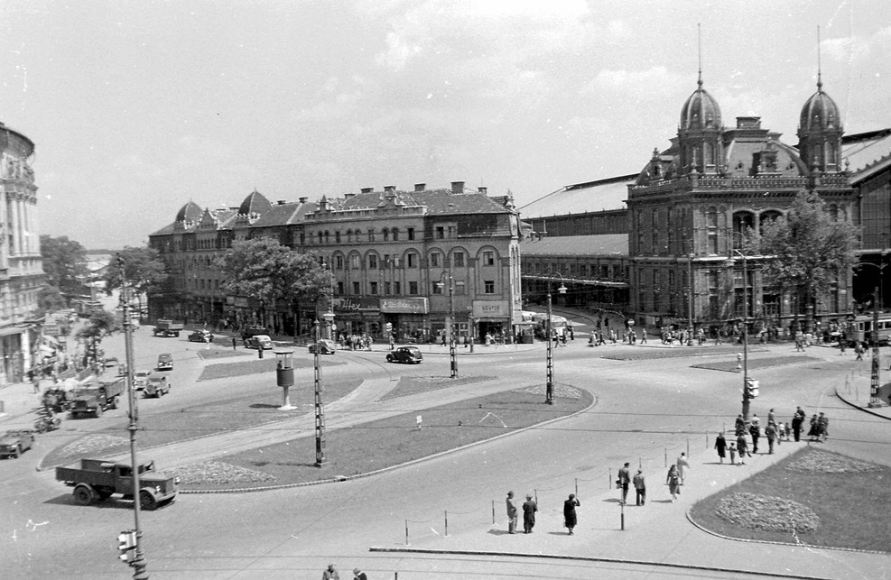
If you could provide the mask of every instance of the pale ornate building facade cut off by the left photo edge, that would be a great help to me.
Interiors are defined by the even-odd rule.
[[[43,284],[34,143],[0,123],[0,382],[23,380],[32,365]]]

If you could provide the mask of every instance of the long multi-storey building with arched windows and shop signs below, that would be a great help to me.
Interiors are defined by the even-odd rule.
[[[511,340],[520,315],[519,220],[510,195],[489,196],[456,181],[449,189],[386,186],[311,203],[269,202],[252,192],[235,208],[183,207],[150,235],[172,275],[171,288],[149,297],[150,316],[238,326],[262,324],[282,334],[311,327],[331,306],[336,331],[381,338]],[[274,237],[329,266],[333,300],[271,308],[266,320],[250,297],[228,296],[214,258],[234,240]],[[450,320],[454,324],[450,324]]]

